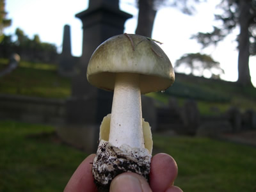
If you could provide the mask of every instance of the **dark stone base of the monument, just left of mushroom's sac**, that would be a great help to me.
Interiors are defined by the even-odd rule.
[[[99,127],[100,125],[60,125],[56,126],[56,132],[63,142],[92,154],[96,153],[99,145]]]

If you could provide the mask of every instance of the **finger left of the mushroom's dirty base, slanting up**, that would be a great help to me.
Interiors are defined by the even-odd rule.
[[[97,191],[92,176],[92,162],[94,157],[95,154],[91,154],[84,159],[68,181],[64,192]]]

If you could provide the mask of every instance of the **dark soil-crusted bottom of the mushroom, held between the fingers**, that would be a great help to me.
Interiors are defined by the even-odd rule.
[[[151,156],[145,148],[115,147],[101,140],[93,160],[93,177],[99,191],[109,191],[111,181],[121,173],[133,172],[149,180]]]

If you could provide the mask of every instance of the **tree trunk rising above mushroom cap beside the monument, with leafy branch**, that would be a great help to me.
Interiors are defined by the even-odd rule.
[[[192,1],[192,3],[191,3]],[[157,9],[161,6],[173,6],[179,8],[182,13],[192,15],[195,12],[193,4],[204,0],[137,0],[139,15],[136,34],[152,36],[152,29]]]

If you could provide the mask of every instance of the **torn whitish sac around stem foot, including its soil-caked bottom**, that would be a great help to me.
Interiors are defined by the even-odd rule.
[[[100,143],[93,160],[93,177],[98,188],[109,188],[111,180],[124,172],[134,172],[148,180],[152,158],[152,134],[150,125],[142,119],[145,148],[129,145],[115,147],[109,143],[111,114],[104,117],[100,125]]]

